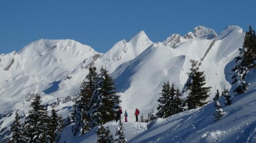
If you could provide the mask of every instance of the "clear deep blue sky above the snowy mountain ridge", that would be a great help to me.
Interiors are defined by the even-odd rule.
[[[40,38],[73,39],[105,53],[143,30],[151,41],[185,34],[197,25],[218,34],[228,25],[256,29],[254,0],[0,0],[0,53]]]

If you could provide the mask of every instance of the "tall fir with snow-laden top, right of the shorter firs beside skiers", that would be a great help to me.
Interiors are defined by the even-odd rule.
[[[205,100],[209,97],[211,87],[205,87],[204,72],[199,71],[199,63],[196,60],[190,60],[191,69],[188,73],[188,80],[184,85],[183,92],[188,92],[185,102],[188,105],[188,110],[202,107],[208,102]]]

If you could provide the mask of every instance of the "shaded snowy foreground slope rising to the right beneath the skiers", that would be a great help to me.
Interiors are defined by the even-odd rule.
[[[252,71],[251,75],[255,75]],[[255,78],[255,77],[251,77]],[[256,142],[256,86],[245,94],[233,98],[230,106],[224,106],[224,116],[214,121],[214,102],[201,109],[184,111],[166,119],[156,119],[150,126],[146,123],[123,123],[128,142]],[[134,118],[133,116],[129,118]],[[133,120],[133,119],[131,119]],[[110,131],[115,135],[117,123],[109,122]],[[72,137],[71,126],[63,131],[61,142],[97,142],[96,128],[86,135]]]

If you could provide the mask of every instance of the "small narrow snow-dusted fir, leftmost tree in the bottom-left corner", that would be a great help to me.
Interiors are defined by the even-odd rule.
[[[22,131],[22,124],[19,122],[19,114],[18,111],[15,113],[15,121],[13,125],[11,126],[11,132],[13,133],[13,136],[11,137],[10,142],[14,143],[25,143],[27,142],[27,137],[23,135]]]

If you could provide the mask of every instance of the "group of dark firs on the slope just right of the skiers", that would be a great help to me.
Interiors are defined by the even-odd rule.
[[[170,86],[167,81],[163,85],[162,93],[158,99],[158,112],[156,115],[159,118],[167,118],[168,116],[184,111],[184,106],[187,105],[188,110],[202,107],[208,102],[205,100],[209,97],[210,87],[205,87],[204,72],[199,71],[200,62],[190,60],[191,69],[188,73],[188,80],[183,88],[183,93],[188,92],[187,98],[181,98],[183,93],[179,88],[175,89],[174,83]]]

